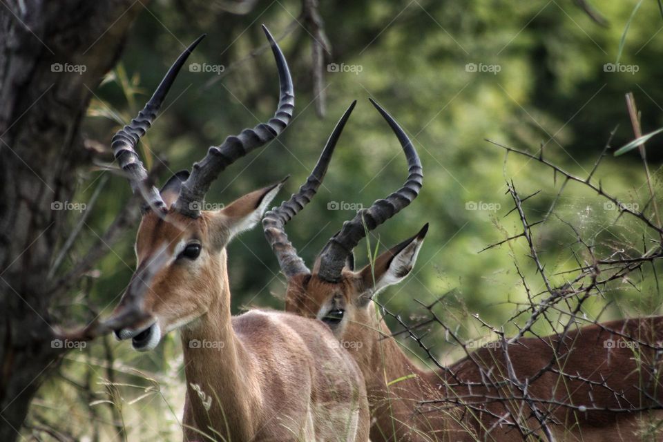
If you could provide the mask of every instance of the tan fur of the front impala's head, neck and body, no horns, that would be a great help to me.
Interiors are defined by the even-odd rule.
[[[324,325],[278,311],[231,317],[225,245],[268,190],[196,220],[170,211],[140,225],[139,267],[164,243],[169,253],[182,240],[202,244],[198,259],[173,260],[157,273],[143,306],[162,334],[181,327],[184,439],[206,439],[202,432],[228,441],[367,441],[363,376]]]

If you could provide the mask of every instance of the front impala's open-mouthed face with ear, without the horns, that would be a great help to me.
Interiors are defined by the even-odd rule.
[[[177,184],[171,180],[161,191],[169,206],[175,194],[173,187]],[[136,238],[137,272],[157,253],[166,253],[167,261],[142,295],[140,307],[148,318],[117,330],[116,336],[131,338],[139,351],[151,350],[166,333],[191,325],[206,314],[227,283],[225,247],[233,236],[258,224],[280,187],[278,184],[249,193],[219,211],[202,211],[195,219],[172,209],[165,216],[144,215]],[[122,312],[131,295],[128,291],[124,294],[114,314]]]

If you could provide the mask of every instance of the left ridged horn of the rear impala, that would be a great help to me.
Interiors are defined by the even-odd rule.
[[[355,104],[357,104],[356,100],[350,104],[343,117],[340,117],[338,123],[336,123],[332,135],[329,135],[329,140],[325,144],[323,153],[320,154],[315,169],[313,169],[306,182],[299,188],[299,191],[293,193],[290,199],[282,202],[280,206],[274,207],[271,211],[265,213],[265,218],[262,218],[262,230],[265,231],[265,238],[267,238],[267,242],[269,242],[271,249],[278,259],[281,270],[288,279],[300,273],[311,272],[306,267],[304,260],[298,256],[297,250],[288,240],[288,236],[284,230],[285,224],[300,210],[304,209],[304,206],[311,202],[311,198],[318,191],[318,187],[322,184],[325,173],[327,173],[329,161],[332,160],[336,142],[338,142],[338,138],[343,132],[345,123],[350,117]]]

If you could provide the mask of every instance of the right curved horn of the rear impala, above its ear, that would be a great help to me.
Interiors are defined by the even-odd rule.
[[[384,200],[377,200],[368,209],[358,211],[357,215],[350,221],[343,223],[343,228],[334,235],[318,258],[318,276],[329,282],[338,282],[340,273],[345,266],[345,258],[352,253],[352,249],[359,244],[368,231],[372,231],[380,224],[392,218],[399,211],[419,195],[421,185],[423,184],[423,171],[419,155],[405,132],[398,126],[398,123],[378,105],[373,99],[370,99],[373,106],[387,120],[387,123],[401,142],[405,158],[407,159],[407,180],[401,189],[387,196]]]

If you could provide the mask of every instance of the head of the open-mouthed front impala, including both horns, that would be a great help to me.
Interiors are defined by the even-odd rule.
[[[282,186],[280,183],[249,193],[219,211],[200,210],[219,174],[273,140],[292,118],[294,88],[288,64],[267,28],[262,28],[276,60],[280,86],[278,107],[269,122],[211,146],[191,173],[176,173],[160,191],[152,184],[135,147],[151,127],[177,73],[203,35],[177,57],[142,111],[111,140],[113,155],[134,195],[145,202],[136,238],[137,271],[112,318],[106,321],[118,338],[131,338],[135,349],[153,349],[164,334],[190,325],[212,305],[218,307],[215,302],[227,285],[226,244],[260,222]]]

